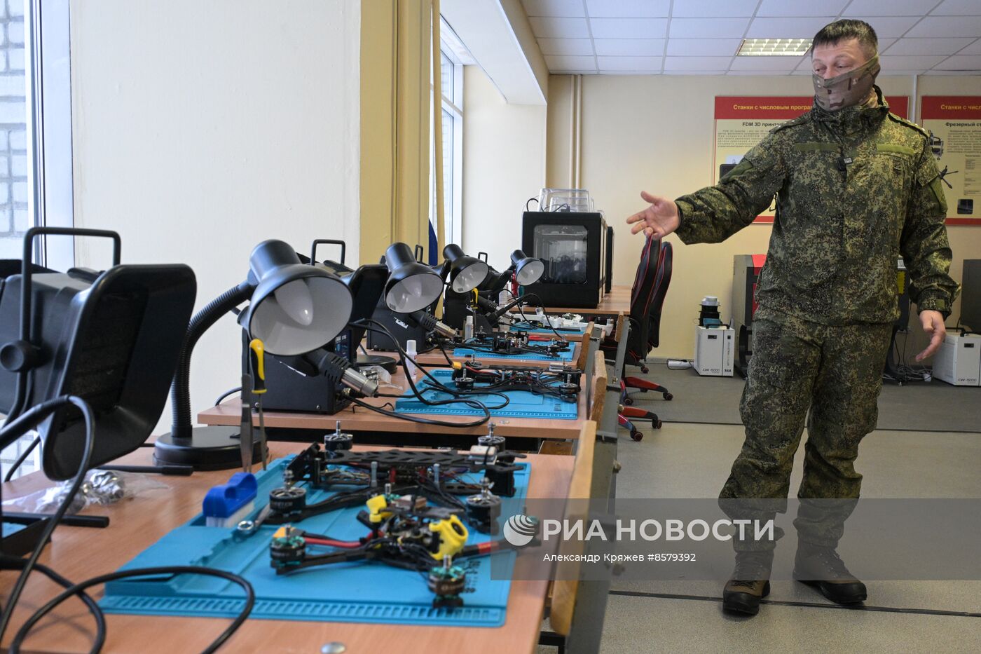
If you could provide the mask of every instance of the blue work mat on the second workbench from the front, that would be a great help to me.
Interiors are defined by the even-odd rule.
[[[542,371],[544,369],[542,368]],[[453,371],[448,368],[439,368],[430,371],[441,384],[452,388]],[[416,385],[419,391],[429,401],[449,400],[453,396],[439,391],[432,387],[428,380],[423,377],[423,381]],[[429,388],[426,388],[426,387]],[[477,385],[476,389],[480,389]],[[424,390],[425,389],[425,390]],[[493,417],[528,417],[528,418],[553,418],[559,420],[575,420],[579,417],[578,402],[563,402],[557,398],[545,395],[537,395],[531,391],[499,391],[507,396],[509,402],[502,409],[490,409]],[[488,407],[496,407],[502,402],[500,396],[483,395],[475,393],[468,395],[467,399],[482,402]],[[481,409],[474,409],[461,403],[452,405],[439,405],[433,407],[427,405],[412,394],[409,389],[405,394],[395,401],[395,412],[397,413],[439,413],[440,415],[484,415]]]

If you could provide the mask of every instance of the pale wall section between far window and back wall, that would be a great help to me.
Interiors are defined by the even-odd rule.
[[[545,180],[543,105],[507,104],[477,66],[463,74],[464,251],[503,270],[521,247],[525,201]]]

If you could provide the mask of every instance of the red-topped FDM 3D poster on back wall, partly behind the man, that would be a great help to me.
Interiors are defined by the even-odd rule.
[[[889,109],[905,118],[909,112],[909,98],[905,95],[886,97]],[[814,102],[811,95],[743,96],[717,95],[715,97],[715,151],[712,159],[712,184],[739,163],[753,145],[781,123],[797,118],[810,111]],[[757,223],[772,223],[775,206],[756,218]]]

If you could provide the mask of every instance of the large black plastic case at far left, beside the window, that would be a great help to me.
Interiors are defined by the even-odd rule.
[[[0,343],[20,339],[20,266],[19,260],[0,265]],[[46,269],[32,274],[30,340],[41,352],[28,375],[25,407],[61,395],[85,400],[96,418],[94,467],[132,452],[156,426],[197,285],[182,264],[118,265],[93,276]],[[0,368],[0,411],[11,409],[16,387],[17,375]],[[77,474],[84,431],[74,408],[40,425],[49,478]]]

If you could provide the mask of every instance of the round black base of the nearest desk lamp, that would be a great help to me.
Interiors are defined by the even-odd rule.
[[[165,465],[191,465],[195,470],[230,470],[242,466],[238,427],[194,427],[190,438],[164,434],[153,446],[153,461]],[[259,430],[252,435],[252,463],[262,463]]]

